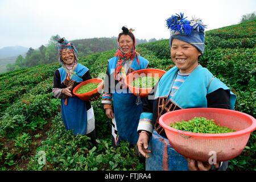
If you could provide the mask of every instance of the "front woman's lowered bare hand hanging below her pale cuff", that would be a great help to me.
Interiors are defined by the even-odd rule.
[[[149,158],[148,153],[150,153],[150,150],[147,150],[148,147],[148,139],[149,136],[147,133],[140,133],[139,134],[139,139],[137,142],[137,147],[139,152],[141,153],[142,156],[144,156],[145,158]]]

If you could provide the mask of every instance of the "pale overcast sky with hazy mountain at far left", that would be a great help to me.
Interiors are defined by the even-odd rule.
[[[196,15],[212,30],[256,11],[255,0],[0,0],[0,48],[46,45],[52,35],[68,40],[117,36],[122,26],[138,39],[167,39],[166,19]]]

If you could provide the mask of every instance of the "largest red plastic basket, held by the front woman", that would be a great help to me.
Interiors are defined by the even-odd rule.
[[[220,126],[236,130],[225,134],[201,134],[181,131],[170,127],[170,123],[188,121],[194,117],[214,119]],[[193,108],[171,111],[159,118],[159,124],[166,131],[172,147],[189,159],[209,162],[215,155],[216,161],[226,161],[240,155],[256,129],[255,118],[229,109]]]

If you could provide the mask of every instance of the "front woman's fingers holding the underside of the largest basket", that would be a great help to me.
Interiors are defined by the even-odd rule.
[[[207,163],[207,162],[201,162],[201,161],[196,161],[193,159],[188,159],[188,168],[191,171],[209,171],[210,168],[212,168],[212,165]],[[214,164],[215,168],[219,168],[218,164]]]

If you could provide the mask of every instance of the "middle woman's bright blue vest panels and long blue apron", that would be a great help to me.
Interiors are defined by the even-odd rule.
[[[113,57],[108,61],[108,76],[114,79],[115,67],[117,66],[118,57]],[[134,71],[147,68],[148,60],[139,56],[139,64],[137,56],[132,60],[130,68]],[[102,104],[111,104],[113,100],[113,110],[115,122],[118,130],[118,142],[126,140],[131,144],[136,144],[138,140],[137,127],[139,123],[139,116],[142,113],[143,104],[136,104],[137,97],[129,93],[127,88],[115,89],[117,81],[114,82],[114,87],[110,89],[109,94],[102,96]],[[110,85],[109,85],[110,86]]]

